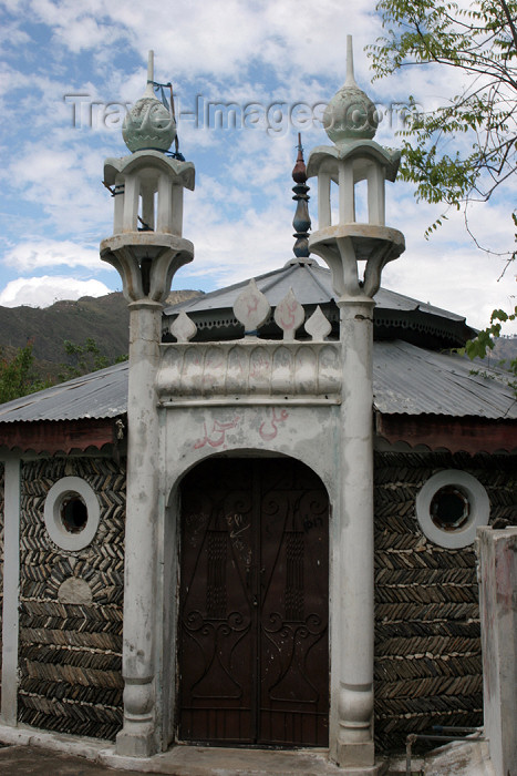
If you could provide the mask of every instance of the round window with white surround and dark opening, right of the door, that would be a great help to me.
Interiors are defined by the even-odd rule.
[[[416,497],[416,518],[427,539],[448,549],[472,544],[490,514],[487,492],[475,477],[447,469],[430,477]]]

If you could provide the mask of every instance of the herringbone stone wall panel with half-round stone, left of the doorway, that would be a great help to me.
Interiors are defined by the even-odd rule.
[[[101,506],[93,542],[76,552],[44,525],[46,493],[65,476],[85,479]],[[19,722],[112,739],[122,726],[125,471],[101,458],[27,462],[21,511]]]

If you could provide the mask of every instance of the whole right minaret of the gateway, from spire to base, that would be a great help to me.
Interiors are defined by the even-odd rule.
[[[374,774],[373,297],[384,265],[405,246],[401,232],[385,225],[384,212],[384,183],[394,181],[400,152],[383,149],[373,140],[375,106],[355,83],[350,35],[347,44],[347,81],[323,115],[333,145],[314,149],[307,164],[309,177],[318,175],[318,231],[309,247],[331,269],[341,316],[342,479],[332,604],[339,633],[332,640],[331,655],[338,674],[333,693],[338,703],[331,718],[338,723],[330,734],[331,757],[342,767]],[[360,181],[365,181],[368,188],[368,215],[362,222],[356,219]],[[337,223],[332,223],[332,182],[339,195]]]

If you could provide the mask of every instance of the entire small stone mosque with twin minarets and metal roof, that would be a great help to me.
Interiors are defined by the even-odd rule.
[[[164,308],[195,170],[153,81],[104,164],[130,360],[0,407],[0,722],[375,774],[483,724],[475,540],[517,524],[515,396],[451,350],[464,317],[381,287],[400,153],[351,51],[331,144],[299,144],[293,256]]]

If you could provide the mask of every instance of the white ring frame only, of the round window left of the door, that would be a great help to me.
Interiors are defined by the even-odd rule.
[[[86,524],[77,533],[68,531],[61,518],[61,507],[65,499],[80,496],[86,506]],[[92,541],[99,528],[101,509],[93,488],[80,477],[63,477],[49,490],[44,506],[45,527],[58,547],[62,550],[83,550]]]

